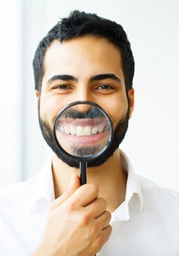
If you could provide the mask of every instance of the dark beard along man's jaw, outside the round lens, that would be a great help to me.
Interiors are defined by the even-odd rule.
[[[129,112],[130,108],[128,107],[126,115],[123,116],[123,118],[120,121],[118,121],[118,124],[115,126],[113,132],[113,140],[110,143],[108,149],[105,150],[105,152],[103,152],[102,155],[100,155],[99,157],[95,158],[94,160],[90,160],[87,163],[88,167],[101,166],[108,160],[108,158],[110,158],[115,153],[115,150],[119,147],[119,145],[123,141],[123,138],[126,135],[128,129]],[[38,109],[38,120],[40,124],[40,130],[45,141],[47,142],[48,146],[53,150],[53,152],[58,156],[58,158],[61,159],[61,161],[63,161],[70,167],[79,168],[79,161],[75,161],[68,155],[65,155],[56,145],[56,142],[53,139],[53,131],[51,129],[50,124],[48,123],[48,121],[40,117],[40,106]]]

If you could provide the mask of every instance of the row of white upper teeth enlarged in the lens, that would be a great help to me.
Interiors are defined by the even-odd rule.
[[[97,132],[102,133],[102,132],[108,131],[108,129],[109,129],[108,125],[101,126],[101,127],[90,127],[90,126],[86,126],[86,127],[71,126],[71,127],[69,127],[69,125],[64,125],[64,126],[61,125],[58,128],[61,129],[61,132],[65,132],[67,135],[76,135],[76,136],[96,135]]]

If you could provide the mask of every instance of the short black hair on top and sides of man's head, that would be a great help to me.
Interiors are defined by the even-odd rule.
[[[132,88],[134,56],[131,51],[131,44],[128,41],[123,27],[114,21],[99,17],[97,14],[75,10],[69,14],[69,17],[61,19],[40,41],[33,59],[35,90],[38,90],[40,93],[43,79],[43,59],[51,42],[55,39],[59,39],[62,42],[83,35],[94,35],[99,38],[106,38],[118,48],[121,53],[126,91]]]

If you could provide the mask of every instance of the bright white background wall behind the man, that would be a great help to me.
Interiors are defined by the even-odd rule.
[[[48,30],[71,10],[123,25],[136,61],[136,106],[121,148],[137,174],[179,191],[179,1],[6,0],[0,4],[0,187],[45,163],[32,58]]]

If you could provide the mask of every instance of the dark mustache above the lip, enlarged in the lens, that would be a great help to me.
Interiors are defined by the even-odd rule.
[[[69,109],[61,112],[58,117],[63,119],[95,119],[104,117],[104,114],[102,114],[101,111],[97,110],[97,108],[90,108],[87,111],[83,112]]]

